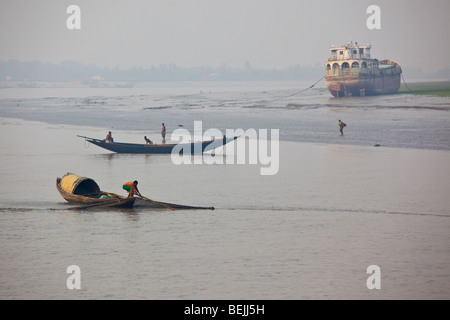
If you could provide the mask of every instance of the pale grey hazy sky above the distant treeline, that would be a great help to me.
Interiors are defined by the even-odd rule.
[[[71,4],[81,30],[66,26]],[[366,26],[371,4],[381,30]],[[353,40],[434,72],[450,67],[449,31],[449,0],[0,0],[0,59],[102,67],[313,66]]]

